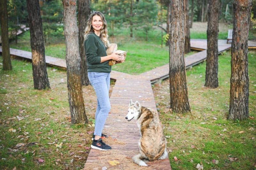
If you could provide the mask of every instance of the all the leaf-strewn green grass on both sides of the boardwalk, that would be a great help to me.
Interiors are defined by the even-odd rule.
[[[127,41],[121,37],[118,48],[128,51],[127,66],[119,68],[121,64],[117,64],[113,70],[139,74],[167,64],[168,48],[160,47],[160,41],[154,39],[156,35],[157,32],[150,34],[148,42],[142,41],[144,37],[127,38]],[[22,34],[26,40],[20,38],[19,46],[11,43],[11,48],[29,51],[28,36],[27,32]],[[65,56],[64,47],[64,44],[46,45],[45,54]],[[153,85],[172,169],[196,169],[198,163],[204,169],[255,169],[255,56],[256,52],[249,50],[249,115],[252,119],[226,120],[230,51],[219,56],[219,87],[216,89],[204,87],[205,63],[187,70],[191,113],[170,111],[168,79],[161,85]],[[145,63],[145,60],[150,62]],[[31,63],[12,60],[12,67],[12,71],[4,71],[0,64],[0,169],[82,168],[90,151],[94,128],[70,124],[66,71],[47,67],[51,89],[39,91],[33,88]],[[83,97],[86,115],[93,121],[96,96],[92,86],[83,87]],[[25,145],[19,147],[20,143]]]

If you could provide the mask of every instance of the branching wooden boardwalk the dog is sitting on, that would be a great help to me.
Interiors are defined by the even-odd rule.
[[[223,41],[225,41],[225,43],[223,43]],[[191,48],[201,50],[201,52],[185,58],[186,68],[201,63],[206,59],[206,43],[206,40],[191,40]],[[218,45],[219,53],[231,48],[231,44],[226,44],[226,40],[219,40]],[[250,45],[251,46],[248,46],[256,47],[255,42],[251,42]],[[0,52],[2,52],[1,47]],[[10,53],[12,56],[31,60],[30,52],[11,49]],[[50,56],[46,56],[45,59],[48,65],[66,68],[65,60]],[[169,158],[148,162],[149,167],[140,167],[132,163],[132,156],[139,153],[138,140],[140,138],[140,132],[135,120],[128,122],[125,119],[130,99],[132,99],[133,102],[138,100],[142,106],[156,110],[151,84],[169,77],[169,64],[157,67],[140,75],[130,75],[112,71],[110,77],[111,79],[115,79],[116,83],[110,96],[111,113],[108,115],[103,129],[103,133],[107,134],[109,138],[103,140],[112,147],[112,150],[103,152],[91,149],[87,161],[84,164],[84,169],[102,169],[102,167],[105,166],[108,169],[124,170],[171,170]],[[167,142],[169,142],[168,139]],[[108,161],[114,160],[118,161],[120,164],[111,166],[108,163]],[[171,159],[171,161],[173,160]]]

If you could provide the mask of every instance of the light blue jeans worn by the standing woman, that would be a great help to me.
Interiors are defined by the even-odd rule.
[[[88,79],[97,95],[94,135],[101,136],[104,124],[110,111],[109,86],[110,73],[88,72]]]

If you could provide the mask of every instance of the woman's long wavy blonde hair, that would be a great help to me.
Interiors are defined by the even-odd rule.
[[[100,39],[103,42],[103,44],[105,45],[105,47],[109,47],[109,41],[108,41],[108,29],[107,29],[107,21],[104,17],[104,15],[100,12],[100,11],[94,11],[92,12],[92,14],[90,15],[90,17],[87,20],[87,25],[86,28],[84,30],[84,40],[87,40],[88,35],[91,33],[94,33],[94,30],[92,28],[92,17],[98,15],[100,16],[100,18],[102,19],[102,28],[100,29]]]

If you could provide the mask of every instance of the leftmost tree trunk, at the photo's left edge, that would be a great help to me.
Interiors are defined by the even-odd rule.
[[[7,1],[0,1],[0,21],[1,21],[1,40],[2,40],[2,57],[3,70],[12,70],[12,62],[10,55],[10,44],[8,34],[8,15],[7,15]]]

